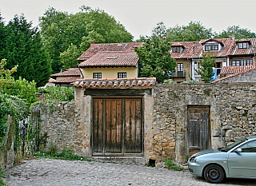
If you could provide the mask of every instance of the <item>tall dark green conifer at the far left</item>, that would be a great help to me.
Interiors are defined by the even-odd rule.
[[[27,22],[22,14],[14,16],[6,26],[6,47],[3,57],[7,59],[6,68],[18,65],[14,78],[35,81],[38,86],[45,85],[51,74],[50,57],[42,45],[42,38],[32,22]]]

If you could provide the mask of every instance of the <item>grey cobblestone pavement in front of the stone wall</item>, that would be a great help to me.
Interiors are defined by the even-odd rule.
[[[4,182],[12,185],[217,185],[166,168],[138,165],[34,159],[5,171]],[[228,179],[218,185],[256,185],[256,180]]]

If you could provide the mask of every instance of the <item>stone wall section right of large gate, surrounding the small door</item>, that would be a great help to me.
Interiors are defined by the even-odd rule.
[[[210,106],[211,147],[256,135],[256,87],[253,83],[163,84],[154,87],[151,156],[184,162],[188,105]]]

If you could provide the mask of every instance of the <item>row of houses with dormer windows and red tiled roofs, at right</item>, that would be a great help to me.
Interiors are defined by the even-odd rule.
[[[171,42],[171,56],[176,59],[177,68],[171,77],[174,82],[193,79],[200,81],[196,72],[200,68],[203,53],[215,57],[214,80],[220,78],[222,68],[226,66],[255,65],[256,38],[210,38],[200,42]]]

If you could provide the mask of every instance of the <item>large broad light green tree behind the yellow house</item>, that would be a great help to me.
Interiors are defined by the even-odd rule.
[[[54,73],[62,69],[60,53],[68,52],[71,43],[81,52],[94,42],[132,42],[133,36],[122,24],[117,22],[103,10],[92,10],[89,6],[82,6],[76,14],[68,14],[49,8],[39,18],[39,26],[43,42],[53,61]],[[79,57],[72,59],[74,61]]]

